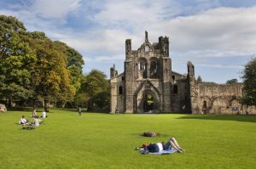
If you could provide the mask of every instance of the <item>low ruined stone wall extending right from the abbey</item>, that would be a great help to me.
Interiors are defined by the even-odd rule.
[[[239,110],[245,113],[256,114],[255,106],[240,104],[238,98],[242,96],[241,83],[238,84],[214,84],[193,81],[194,87],[191,96],[192,113],[216,113],[216,114],[236,114]]]

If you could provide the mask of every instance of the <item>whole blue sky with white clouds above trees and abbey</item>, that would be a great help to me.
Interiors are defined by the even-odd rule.
[[[28,31],[44,31],[84,56],[84,73],[124,70],[125,39],[137,49],[170,38],[172,70],[187,61],[203,81],[240,80],[256,54],[255,0],[0,0],[0,14],[16,16]]]

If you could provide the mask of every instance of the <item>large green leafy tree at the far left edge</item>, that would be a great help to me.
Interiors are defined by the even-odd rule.
[[[36,55],[27,41],[24,25],[15,17],[0,16],[0,93],[2,99],[24,100],[32,96],[31,72]]]

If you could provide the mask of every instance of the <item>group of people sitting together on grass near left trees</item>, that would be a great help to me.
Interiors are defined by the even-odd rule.
[[[46,118],[47,117],[46,112],[42,111],[42,115],[40,117],[43,119]],[[20,118],[19,124],[38,127],[42,123],[42,120],[37,115],[37,110],[33,110],[32,118],[33,118],[33,120],[32,120],[32,122],[30,122],[28,119],[25,118],[25,115],[22,115]]]

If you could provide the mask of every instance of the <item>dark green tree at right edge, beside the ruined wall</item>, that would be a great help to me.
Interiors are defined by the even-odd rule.
[[[256,105],[256,58],[253,57],[247,62],[241,78],[244,83],[245,96],[241,99],[247,105]]]

